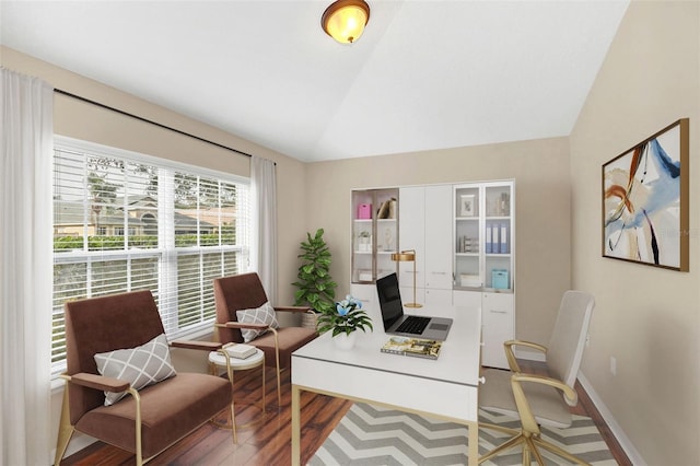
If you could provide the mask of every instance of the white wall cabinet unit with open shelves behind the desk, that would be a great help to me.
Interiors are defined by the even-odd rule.
[[[416,301],[427,310],[480,306],[482,363],[508,368],[503,341],[515,338],[514,195],[513,180],[353,190],[351,293],[376,310],[378,322],[374,281],[397,271],[404,301],[412,301],[413,263],[390,255],[415,249]],[[394,214],[377,219],[390,200]],[[371,206],[371,218],[361,218],[368,214],[361,206]]]

